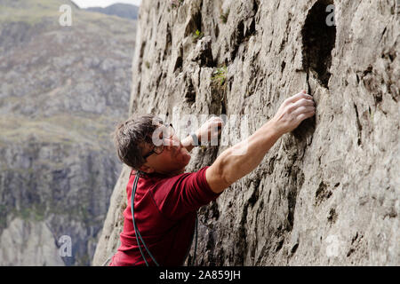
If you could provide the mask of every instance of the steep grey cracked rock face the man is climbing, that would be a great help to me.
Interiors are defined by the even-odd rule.
[[[178,113],[242,115],[222,133],[240,140],[239,126],[252,133],[293,94],[308,90],[316,101],[314,118],[200,210],[196,264],[400,264],[400,7],[334,1],[333,13],[331,4],[141,5],[131,113],[172,122]],[[210,165],[226,147],[196,149],[187,170]],[[93,264],[118,246],[128,172]]]

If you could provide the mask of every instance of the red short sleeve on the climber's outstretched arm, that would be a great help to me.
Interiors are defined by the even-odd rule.
[[[220,193],[214,193],[207,183],[207,168],[165,178],[152,188],[156,206],[165,217],[178,220],[220,196]]]

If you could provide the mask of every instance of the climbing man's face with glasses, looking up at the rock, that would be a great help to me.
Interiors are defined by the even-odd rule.
[[[182,146],[180,139],[175,134],[172,137],[165,137],[165,131],[162,131],[163,128],[165,126],[160,124],[158,131],[155,131],[156,135],[159,135],[158,142],[162,142],[164,145],[163,152],[161,154],[150,154],[154,150],[155,145],[153,143],[146,143],[143,146],[143,154],[144,156],[147,154],[150,155],[140,170],[148,173],[179,174],[188,165],[190,154]]]

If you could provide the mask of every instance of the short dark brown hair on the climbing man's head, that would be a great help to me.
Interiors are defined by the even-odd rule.
[[[146,161],[143,159],[143,145],[152,143],[151,136],[163,123],[155,115],[132,115],[127,121],[118,124],[114,132],[114,144],[119,160],[134,170],[139,170]]]

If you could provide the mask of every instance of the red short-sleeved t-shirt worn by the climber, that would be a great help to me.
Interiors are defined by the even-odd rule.
[[[205,167],[175,177],[161,174],[141,175],[134,199],[135,222],[150,253],[160,265],[182,265],[187,256],[196,225],[196,210],[215,200],[205,179]],[[110,266],[146,265],[140,254],[132,224],[131,197],[135,179],[132,170],[126,187],[128,206],[124,210],[121,246]],[[146,248],[141,248],[149,265],[155,265]]]

